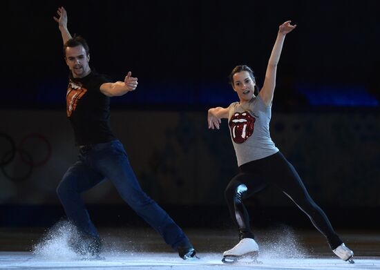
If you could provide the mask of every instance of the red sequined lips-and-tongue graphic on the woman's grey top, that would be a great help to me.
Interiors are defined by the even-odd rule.
[[[254,123],[256,119],[247,111],[244,113],[234,113],[229,120],[231,137],[236,144],[245,142],[254,133]]]

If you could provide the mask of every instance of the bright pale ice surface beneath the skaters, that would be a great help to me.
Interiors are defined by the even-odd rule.
[[[0,269],[380,269],[380,259],[356,258],[355,264],[338,258],[262,258],[263,264],[223,264],[222,254],[200,253],[200,260],[182,260],[175,253],[104,253],[105,260],[46,258],[31,252],[0,252]]]

